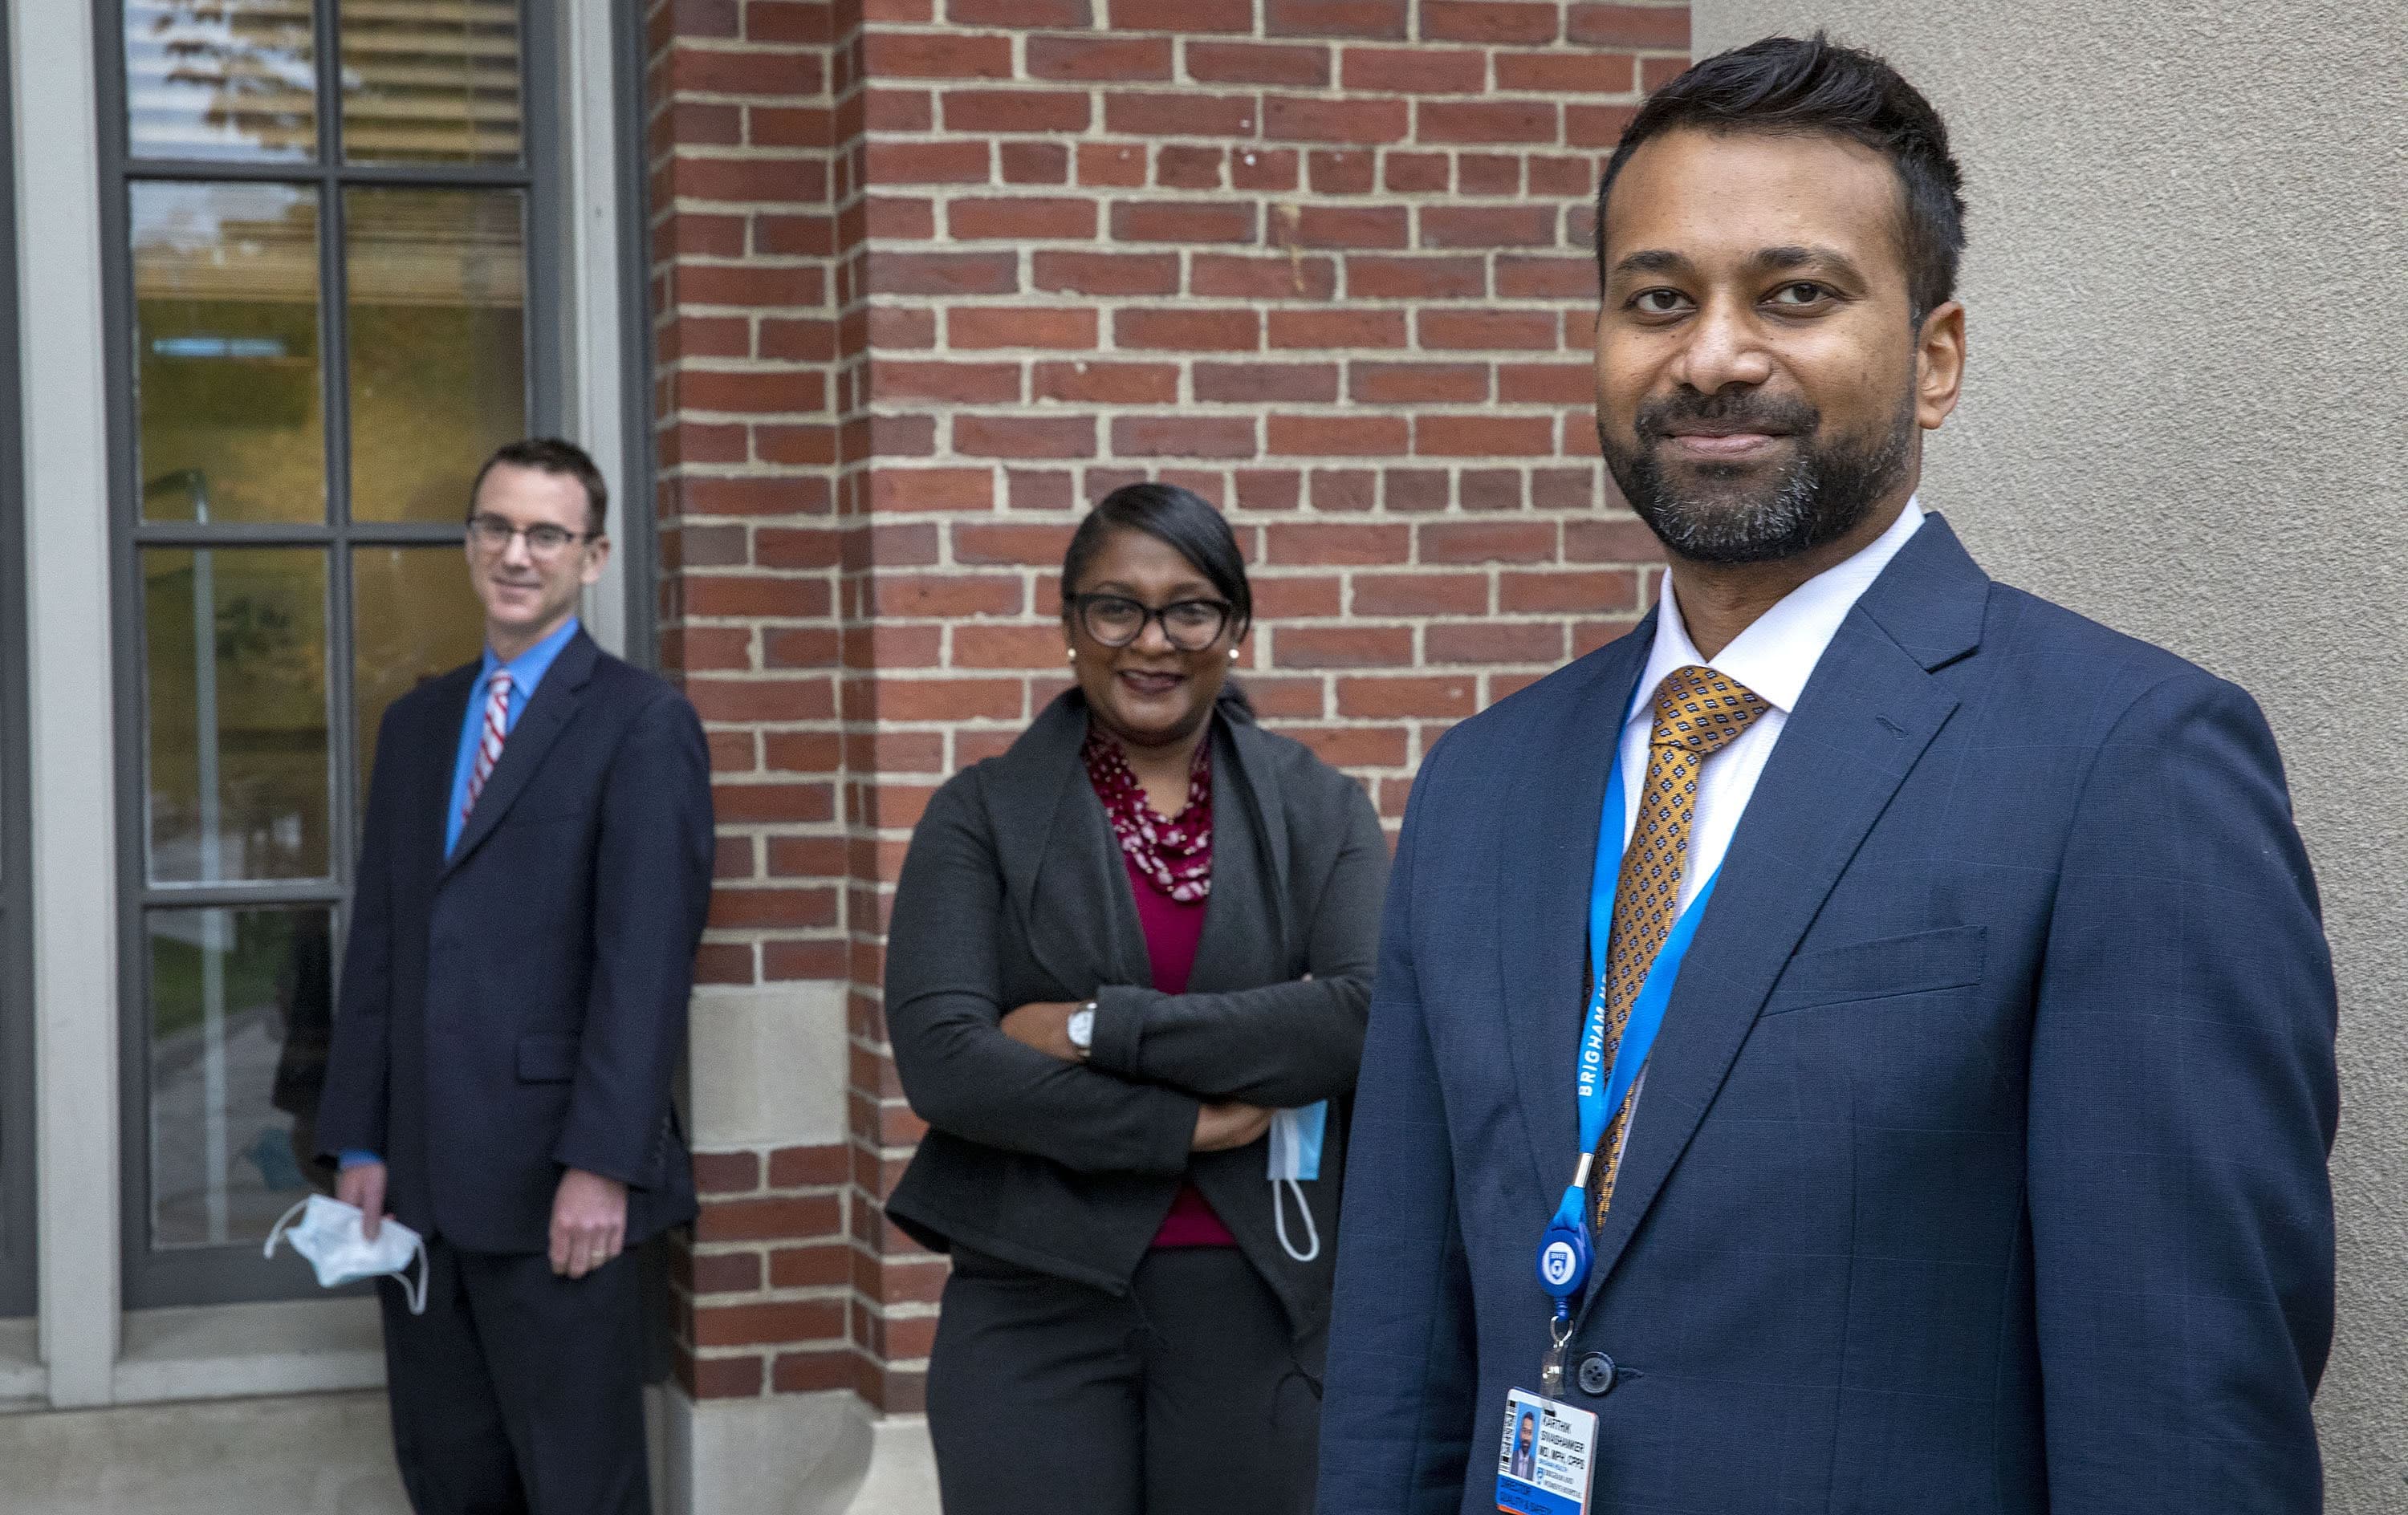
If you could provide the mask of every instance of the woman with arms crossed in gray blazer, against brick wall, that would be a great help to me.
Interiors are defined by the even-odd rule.
[[[1218,511],[1112,491],[1062,561],[1076,689],[913,833],[886,1028],[929,1132],[889,1214],[954,1255],[946,1515],[1312,1505],[1322,1101],[1353,1091],[1387,843],[1228,686],[1250,619]]]

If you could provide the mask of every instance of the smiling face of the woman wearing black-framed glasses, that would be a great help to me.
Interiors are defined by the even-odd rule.
[[[1211,643],[1182,650],[1163,633],[1161,617],[1149,617],[1129,646],[1110,648],[1088,633],[1074,609],[1076,595],[1120,595],[1146,609],[1182,600],[1226,605],[1226,595],[1175,547],[1127,527],[1103,540],[1079,583],[1062,585],[1062,629],[1091,718],[1132,749],[1194,737],[1221,696],[1230,648],[1245,638],[1245,626],[1230,619]]]

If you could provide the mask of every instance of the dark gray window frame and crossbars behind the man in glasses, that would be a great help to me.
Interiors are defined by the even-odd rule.
[[[101,255],[108,330],[108,479],[111,479],[111,583],[116,662],[116,788],[118,788],[118,983],[120,1038],[120,1245],[125,1308],[200,1303],[248,1303],[306,1298],[318,1289],[308,1269],[291,1260],[267,1262],[253,1243],[154,1252],[149,1248],[149,908],[205,906],[327,906],[335,910],[335,973],[349,922],[356,860],[359,742],[352,720],[352,547],[458,544],[460,527],[445,523],[354,523],[349,518],[349,364],[344,330],[347,270],[342,260],[342,190],[352,185],[407,188],[518,188],[527,226],[527,424],[535,434],[561,429],[566,373],[554,335],[566,313],[561,270],[566,265],[568,185],[559,99],[559,26],[549,0],[520,0],[520,161],[498,164],[344,164],[342,96],[335,89],[340,58],[340,0],[313,0],[318,58],[318,130],[325,152],[315,161],[219,161],[135,159],[125,120],[125,5],[94,0],[99,43],[108,55],[99,75],[101,145]],[[287,183],[318,193],[318,361],[323,385],[327,513],[318,525],[193,525],[144,523],[142,482],[135,477],[135,371],[132,371],[132,255],[128,243],[130,188],[144,181],[183,183]],[[626,520],[624,530],[641,530]],[[323,547],[327,549],[327,761],[330,761],[330,877],[308,884],[149,884],[144,865],[144,761],[142,689],[142,561],[144,547]],[[465,571],[465,568],[462,568]]]

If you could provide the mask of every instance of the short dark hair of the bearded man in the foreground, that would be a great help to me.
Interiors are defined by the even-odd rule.
[[[1657,89],[1623,128],[1621,145],[1597,183],[1597,272],[1606,272],[1606,195],[1623,164],[1649,137],[1674,130],[1707,132],[1830,132],[1890,159],[1900,183],[1898,250],[1907,265],[1907,299],[1922,325],[1955,294],[1965,253],[1963,176],[1948,157],[1948,123],[1931,101],[1873,53],[1842,48],[1816,31],[1806,41],[1767,36],[1714,53]]]

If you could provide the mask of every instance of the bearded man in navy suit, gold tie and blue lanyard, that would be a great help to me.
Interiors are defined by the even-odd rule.
[[[2319,1510],[2314,879],[2247,694],[1917,501],[1941,118],[1767,39],[1640,108],[1599,214],[1599,436],[1669,573],[1416,780],[1322,1515],[1493,1508],[1517,1387],[1597,1416],[1592,1513]]]

